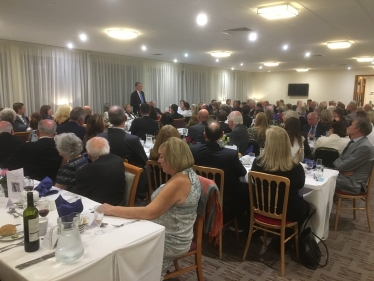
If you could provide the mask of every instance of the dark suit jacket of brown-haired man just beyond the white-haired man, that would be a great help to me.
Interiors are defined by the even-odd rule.
[[[144,168],[148,158],[137,136],[128,134],[123,129],[112,128],[98,137],[108,140],[110,153],[127,159],[132,165]]]

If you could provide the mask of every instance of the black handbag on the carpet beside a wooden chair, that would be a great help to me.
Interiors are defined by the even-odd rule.
[[[329,250],[327,249],[325,242],[323,242],[321,238],[319,238],[315,233],[313,233],[310,227],[305,228],[306,224],[308,223],[309,219],[313,216],[314,213],[315,210],[309,215],[308,219],[304,224],[304,229],[299,236],[300,260],[306,268],[313,270],[317,269],[318,267],[325,267],[329,261]],[[325,246],[326,261],[324,264],[320,264],[321,250],[314,237],[317,237],[320,240],[320,242]]]

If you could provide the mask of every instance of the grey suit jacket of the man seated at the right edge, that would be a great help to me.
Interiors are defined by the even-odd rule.
[[[351,176],[339,174],[336,179],[336,190],[359,194],[366,189],[366,181],[371,172],[374,158],[374,147],[367,137],[351,143],[348,149],[334,161],[334,166],[340,173],[353,172]]]

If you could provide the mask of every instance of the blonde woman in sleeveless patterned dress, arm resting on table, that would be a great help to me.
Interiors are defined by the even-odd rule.
[[[158,162],[162,170],[172,177],[156,189],[152,194],[151,203],[145,207],[103,204],[103,210],[105,215],[152,220],[165,227],[164,261],[161,271],[164,275],[173,259],[187,253],[191,246],[201,187],[192,169],[194,159],[191,150],[184,141],[171,137],[161,144],[159,154]]]

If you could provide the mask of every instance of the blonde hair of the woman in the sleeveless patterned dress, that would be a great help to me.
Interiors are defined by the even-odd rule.
[[[180,138],[171,137],[160,145],[158,152],[164,151],[164,160],[173,170],[181,172],[191,168],[195,162],[191,150],[186,142]]]

